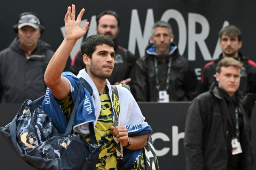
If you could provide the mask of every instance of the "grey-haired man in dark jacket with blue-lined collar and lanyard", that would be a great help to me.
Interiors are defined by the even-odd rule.
[[[135,65],[134,96],[137,102],[191,101],[198,95],[197,76],[181,56],[169,23],[156,22],[152,44]]]

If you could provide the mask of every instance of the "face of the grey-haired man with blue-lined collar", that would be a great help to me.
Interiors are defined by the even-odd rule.
[[[155,45],[155,51],[160,55],[168,54],[171,38],[173,38],[173,35],[170,35],[168,28],[155,28],[154,35],[151,36],[151,41]]]

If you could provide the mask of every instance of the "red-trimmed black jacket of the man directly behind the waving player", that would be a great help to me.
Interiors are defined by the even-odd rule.
[[[115,65],[111,77],[108,78],[111,85],[114,85],[116,82],[121,82],[127,78],[133,79],[132,70],[136,61],[135,56],[125,48],[115,44],[114,50],[116,53]],[[79,50],[71,63],[70,71],[77,75],[79,71],[84,68],[85,64],[82,60],[82,53],[81,50]]]

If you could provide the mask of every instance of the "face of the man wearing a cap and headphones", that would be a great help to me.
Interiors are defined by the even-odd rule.
[[[31,26],[24,26],[18,29],[19,44],[25,50],[33,50],[37,47],[37,41],[41,33],[39,29],[35,29]]]

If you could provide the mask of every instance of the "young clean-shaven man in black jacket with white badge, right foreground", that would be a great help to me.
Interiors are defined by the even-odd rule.
[[[242,63],[218,62],[216,80],[187,111],[184,149],[187,170],[252,170],[253,149],[245,94],[238,90]],[[254,100],[246,100],[254,103]],[[251,104],[253,106],[253,104]]]

